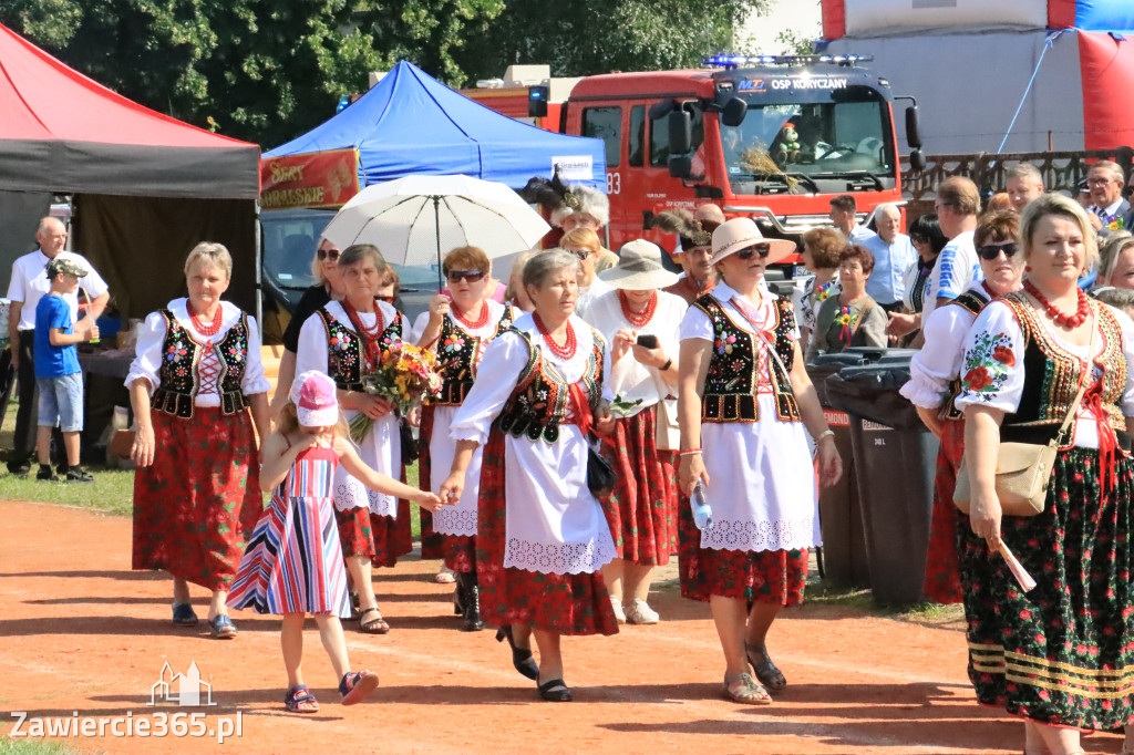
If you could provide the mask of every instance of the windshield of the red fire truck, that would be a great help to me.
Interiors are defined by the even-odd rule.
[[[785,176],[795,176],[816,193],[828,189],[823,179],[841,180],[844,186],[848,178],[861,179],[877,189],[895,185],[889,109],[877,94],[863,101],[776,104],[768,103],[767,96],[746,99],[744,122],[720,127],[725,167],[735,193],[784,190]]]

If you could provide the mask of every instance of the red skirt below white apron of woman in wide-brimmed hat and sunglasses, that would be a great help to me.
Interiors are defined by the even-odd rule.
[[[807,549],[792,551],[720,551],[701,548],[689,499],[678,502],[678,567],[682,596],[708,601],[710,595],[750,603],[798,605],[807,580]]]

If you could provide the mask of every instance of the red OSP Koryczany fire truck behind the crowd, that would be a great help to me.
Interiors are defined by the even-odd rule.
[[[604,142],[611,248],[634,238],[671,247],[653,217],[706,202],[726,217],[751,217],[765,236],[798,240],[830,226],[829,202],[840,194],[855,196],[864,222],[879,204],[903,203],[895,101],[909,101],[911,164],[924,164],[916,101],[894,95],[886,78],[858,65],[868,60],[716,57],[703,69],[566,85],[524,83],[509,69],[513,82],[481,82],[463,93],[542,128]]]

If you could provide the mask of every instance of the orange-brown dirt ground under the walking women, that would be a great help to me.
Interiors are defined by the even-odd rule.
[[[77,712],[151,722],[159,713],[204,713],[202,730],[240,718],[240,736],[223,745],[116,738],[109,728],[102,737],[66,737],[81,750],[107,753],[912,755],[1023,746],[1018,723],[975,705],[959,622],[930,626],[830,605],[786,612],[769,647],[789,687],[772,706],[748,707],[721,698],[723,661],[708,606],[672,586],[651,600],[661,623],[566,639],[575,702],[541,703],[491,631],[457,630],[451,588],[429,580],[435,561],[417,559],[375,578],[389,635],[348,627],[352,664],[381,675],[378,692],[353,709],[338,704],[312,625],[304,669],[322,710],[291,715],[281,704],[278,621],[239,612],[234,642],[175,628],[171,583],[129,571],[129,553],[127,518],[0,502],[0,733],[12,732],[12,711],[26,711],[29,719]],[[203,617],[201,591],[194,602]],[[174,672],[195,662],[217,704],[151,707],[167,661]],[[1085,745],[1120,749],[1112,735]]]

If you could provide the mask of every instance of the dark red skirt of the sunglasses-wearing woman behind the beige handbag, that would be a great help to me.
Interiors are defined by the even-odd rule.
[[[933,477],[933,515],[925,553],[925,597],[938,603],[960,602],[960,576],[957,572],[957,507],[953,491],[957,469],[965,451],[965,421],[941,423],[941,450],[937,453]]]

